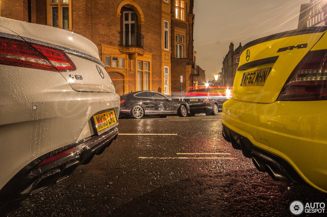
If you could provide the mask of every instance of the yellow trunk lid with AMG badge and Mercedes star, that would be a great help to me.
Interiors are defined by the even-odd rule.
[[[244,45],[233,98],[257,103],[276,101],[293,69],[326,30],[326,26],[291,30]]]

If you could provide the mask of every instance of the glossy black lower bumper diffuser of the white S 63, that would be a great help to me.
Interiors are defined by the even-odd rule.
[[[118,135],[118,129],[92,136],[35,159],[19,171],[1,190],[0,203],[24,199],[29,195],[67,178],[80,164],[88,164],[95,154],[101,154]],[[75,147],[74,152],[38,166],[44,159]]]

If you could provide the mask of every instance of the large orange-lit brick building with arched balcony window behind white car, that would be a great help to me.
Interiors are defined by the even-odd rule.
[[[182,94],[193,64],[194,0],[2,0],[3,17],[90,39],[119,95]],[[192,67],[193,66],[193,67]]]

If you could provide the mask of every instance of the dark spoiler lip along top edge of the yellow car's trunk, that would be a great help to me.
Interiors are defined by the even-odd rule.
[[[281,32],[277,34],[273,34],[270,36],[265,36],[262,38],[258,38],[256,40],[250,41],[246,43],[243,47],[240,53],[242,53],[245,49],[250,48],[254,45],[279,39],[279,38],[285,38],[285,37],[290,37],[290,36],[298,36],[298,35],[304,35],[304,34],[311,34],[311,33],[319,33],[319,32],[324,32],[327,30],[327,26],[313,26],[313,27],[306,27],[306,28],[301,28],[301,29],[294,29],[286,32]]]

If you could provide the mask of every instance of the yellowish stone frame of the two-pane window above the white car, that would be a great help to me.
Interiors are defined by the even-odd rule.
[[[62,7],[68,7],[68,29],[72,31],[72,0],[69,0],[68,3],[63,3],[63,0],[58,0],[58,2],[52,2],[53,0],[47,0],[46,11],[47,11],[47,25],[52,26],[52,10],[51,7],[58,7],[58,28],[62,29]]]

